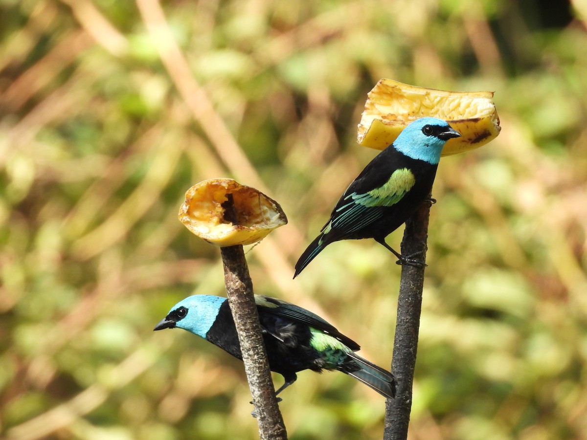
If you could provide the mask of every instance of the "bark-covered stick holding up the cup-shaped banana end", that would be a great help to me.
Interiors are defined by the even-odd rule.
[[[235,219],[232,196],[229,195],[225,208],[225,219]],[[242,361],[251,389],[259,437],[261,440],[287,439],[284,419],[279,411],[271,370],[261,336],[259,314],[255,306],[253,284],[242,246],[220,248],[224,265],[224,282],[228,304],[237,327],[241,344]]]

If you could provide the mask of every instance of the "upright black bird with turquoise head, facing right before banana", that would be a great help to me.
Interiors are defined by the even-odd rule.
[[[444,144],[460,136],[446,121],[431,117],[404,128],[346,188],[320,235],[296,263],[294,278],[330,243],[348,239],[373,238],[400,263],[423,265],[413,255],[394,251],[385,238],[429,200]]]

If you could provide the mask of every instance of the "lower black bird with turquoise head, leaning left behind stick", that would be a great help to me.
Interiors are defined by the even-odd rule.
[[[395,395],[392,373],[358,356],[359,344],[302,307],[269,296],[255,296],[271,371],[284,377],[275,394],[296,381],[299,371],[338,370],[387,398]],[[154,330],[184,329],[242,360],[228,300],[194,295],[177,303]]]

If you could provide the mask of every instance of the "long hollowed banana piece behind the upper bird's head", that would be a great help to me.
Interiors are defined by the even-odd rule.
[[[357,142],[383,150],[407,125],[425,116],[444,119],[461,134],[447,141],[443,156],[481,147],[501,130],[493,92],[448,92],[382,79],[367,95]]]

